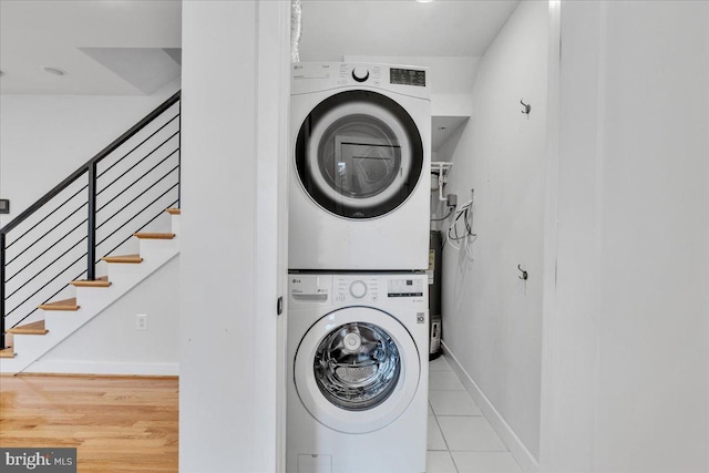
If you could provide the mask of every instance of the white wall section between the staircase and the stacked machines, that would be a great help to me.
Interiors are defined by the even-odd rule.
[[[278,462],[289,19],[287,1],[183,4],[181,472]]]

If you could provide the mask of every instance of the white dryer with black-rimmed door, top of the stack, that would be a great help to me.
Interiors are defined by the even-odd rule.
[[[295,63],[288,267],[428,267],[431,101],[424,68]]]

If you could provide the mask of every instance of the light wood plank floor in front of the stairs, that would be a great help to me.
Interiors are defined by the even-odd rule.
[[[79,472],[176,472],[176,378],[0,377],[0,445],[75,446]]]

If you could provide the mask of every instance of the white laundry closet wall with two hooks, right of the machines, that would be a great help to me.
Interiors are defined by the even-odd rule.
[[[546,68],[547,4],[523,1],[482,58],[470,122],[439,151],[453,163],[444,194],[475,189],[477,234],[472,261],[443,250],[443,339],[525,465],[540,449]]]

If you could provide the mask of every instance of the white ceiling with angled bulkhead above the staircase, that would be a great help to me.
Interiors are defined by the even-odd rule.
[[[1,93],[150,94],[181,47],[179,0],[0,0]]]

